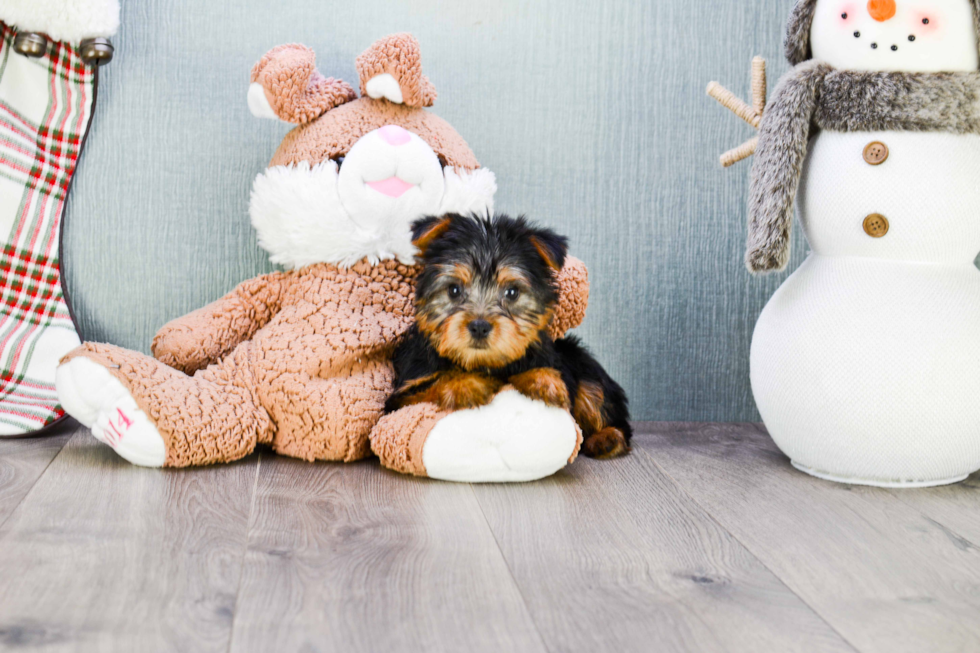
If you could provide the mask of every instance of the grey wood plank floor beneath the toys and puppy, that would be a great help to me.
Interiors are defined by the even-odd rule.
[[[833,485],[758,426],[638,431],[510,486],[0,441],[0,649],[980,650],[980,477]]]

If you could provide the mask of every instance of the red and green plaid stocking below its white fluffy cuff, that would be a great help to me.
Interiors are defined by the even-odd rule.
[[[0,28],[0,435],[9,435],[64,414],[55,369],[78,335],[58,245],[95,72],[66,43],[40,59],[17,54],[15,31]]]

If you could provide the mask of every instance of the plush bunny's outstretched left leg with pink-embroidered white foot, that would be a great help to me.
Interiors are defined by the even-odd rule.
[[[129,462],[189,467],[248,455],[270,437],[255,392],[249,343],[187,376],[112,345],[87,343],[58,368],[65,410]]]

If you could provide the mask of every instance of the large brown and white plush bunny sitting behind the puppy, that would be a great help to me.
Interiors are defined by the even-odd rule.
[[[389,357],[413,317],[410,225],[489,213],[496,184],[425,110],[436,94],[412,36],[375,43],[357,68],[360,99],[317,72],[300,45],[274,48],[252,70],[253,113],[299,125],[256,178],[250,206],[259,244],[287,271],[167,324],[155,358],[85,344],[64,359],[65,409],[130,462],[226,462],[260,443],[353,461],[373,444],[382,464],[407,473],[524,481],[577,454],[581,434],[567,411],[513,391],[454,414],[412,406],[378,425],[392,391]],[[558,280],[556,335],[578,325],[588,301],[581,262]]]

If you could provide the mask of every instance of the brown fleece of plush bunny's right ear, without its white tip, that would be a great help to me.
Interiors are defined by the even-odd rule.
[[[422,74],[419,42],[407,32],[376,41],[357,58],[357,72],[361,78],[361,95],[367,95],[369,81],[388,73],[401,87],[405,105],[431,107],[436,101],[435,87]]]

